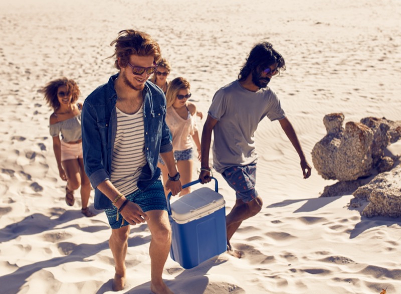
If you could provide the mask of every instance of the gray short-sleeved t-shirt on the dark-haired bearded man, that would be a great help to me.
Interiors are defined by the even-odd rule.
[[[271,121],[285,117],[280,100],[269,87],[252,92],[238,80],[216,92],[208,113],[218,120],[213,129],[213,167],[219,173],[256,163],[254,133],[259,122],[265,116]]]

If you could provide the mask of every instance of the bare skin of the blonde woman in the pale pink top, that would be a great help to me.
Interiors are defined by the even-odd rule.
[[[190,91],[189,89],[181,89],[178,91],[177,95],[187,95],[189,94]],[[196,106],[195,104],[187,101],[187,98],[184,98],[182,100],[178,100],[178,98],[175,98],[174,103],[172,104],[171,107],[174,107],[175,111],[177,112],[177,114],[182,117],[183,119],[187,119],[188,117],[188,110],[186,109],[186,107],[188,107],[188,110],[190,112],[190,114],[193,116],[196,113]],[[198,152],[198,160],[200,161],[200,141],[199,141],[199,134],[198,131],[196,130],[193,135],[192,135],[192,139],[196,145],[196,150]],[[158,163],[157,165],[162,173],[163,176],[163,183],[167,182],[168,176],[167,176],[167,168],[165,165],[162,165],[160,163]],[[178,168],[178,172],[181,175],[180,177],[180,181],[181,183],[189,183],[192,180],[192,166],[193,166],[193,161],[192,160],[179,160],[177,161],[177,168]],[[171,175],[171,174],[170,174]],[[170,191],[164,187],[164,194],[167,196],[168,193]],[[190,193],[190,187],[184,188],[182,189],[181,193],[179,194],[179,196],[183,196],[186,195],[188,193]]]

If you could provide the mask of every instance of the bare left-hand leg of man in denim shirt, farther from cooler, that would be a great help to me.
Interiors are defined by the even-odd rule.
[[[109,246],[113,253],[116,270],[112,285],[113,291],[122,290],[125,285],[125,256],[127,255],[129,228],[128,225],[111,230]]]

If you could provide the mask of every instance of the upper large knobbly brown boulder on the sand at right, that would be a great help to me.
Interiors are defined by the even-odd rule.
[[[353,181],[372,174],[389,171],[392,158],[384,150],[401,137],[401,121],[366,117],[360,122],[347,122],[344,115],[331,113],[323,118],[327,134],[315,144],[312,162],[319,175],[327,180]]]

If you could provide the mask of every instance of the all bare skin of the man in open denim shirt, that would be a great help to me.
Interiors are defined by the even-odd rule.
[[[131,55],[130,63],[134,66],[150,67],[153,66],[153,57]],[[124,78],[126,79],[125,81]],[[149,75],[146,74],[146,71],[142,75],[134,75],[131,67],[128,65],[126,67],[121,67],[120,74],[114,84],[118,95],[116,106],[121,111],[128,114],[134,114],[139,110],[143,103],[142,91],[148,78]],[[127,85],[127,83],[129,85]],[[132,87],[135,87],[137,90],[134,90]],[[176,175],[177,169],[172,151],[160,154],[160,156],[166,163],[170,175]],[[165,186],[171,190],[172,195],[177,195],[182,189],[180,181],[167,181]],[[120,194],[109,180],[99,184],[97,188],[111,201]],[[115,203],[116,207],[119,208],[125,200],[126,198],[124,196],[121,197]],[[128,202],[121,211],[121,215],[131,225],[144,222],[148,224],[152,235],[149,246],[149,255],[151,260],[150,289],[155,294],[173,294],[161,277],[171,244],[171,228],[167,211],[151,210],[145,213],[139,205],[133,202]],[[109,240],[110,249],[113,253],[115,262],[115,275],[112,284],[114,291],[122,290],[125,286],[125,257],[128,248],[127,241],[129,229],[129,225],[123,226],[119,229],[112,229]]]

